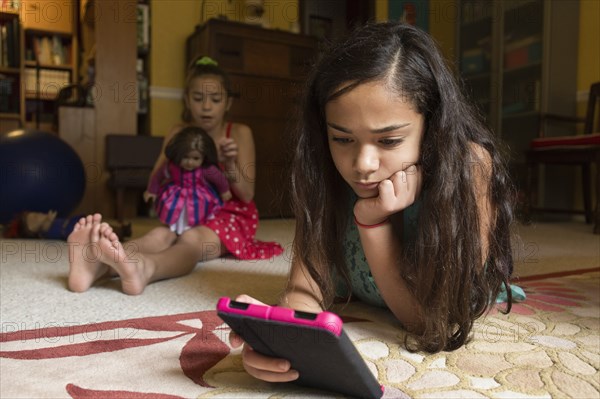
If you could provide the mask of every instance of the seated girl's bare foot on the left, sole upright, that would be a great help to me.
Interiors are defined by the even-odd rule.
[[[96,213],[81,218],[67,238],[69,246],[68,287],[84,292],[108,271],[100,261],[99,229],[102,215]]]

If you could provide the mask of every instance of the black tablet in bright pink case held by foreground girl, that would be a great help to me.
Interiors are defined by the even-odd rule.
[[[381,398],[383,387],[334,313],[307,313],[221,298],[217,313],[255,351],[290,361],[292,383],[356,398]]]

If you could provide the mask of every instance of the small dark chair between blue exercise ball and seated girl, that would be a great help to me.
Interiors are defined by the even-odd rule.
[[[119,223],[123,224],[125,191],[146,188],[162,143],[162,137],[106,136],[106,167],[110,172],[108,185],[115,190],[115,218]]]

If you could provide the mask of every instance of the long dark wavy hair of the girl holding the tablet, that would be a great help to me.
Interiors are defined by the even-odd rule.
[[[513,269],[510,226],[513,188],[499,143],[482,122],[436,43],[418,28],[369,23],[326,50],[313,68],[294,129],[292,192],[296,216],[294,262],[302,262],[334,298],[332,268],[348,281],[341,248],[352,206],[333,163],[325,105],[366,82],[384,82],[423,115],[419,164],[423,189],[414,245],[404,245],[401,274],[423,309],[424,328],[407,334],[411,350],[452,350],[469,338],[474,321],[494,303]],[[477,163],[473,147],[490,165]],[[475,179],[489,179],[489,248],[482,253]],[[487,259],[482,265],[482,259]],[[504,309],[510,311],[511,297]],[[413,339],[411,339],[413,338]]]

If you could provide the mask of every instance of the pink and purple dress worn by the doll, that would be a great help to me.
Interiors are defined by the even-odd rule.
[[[161,176],[166,177],[164,182]],[[229,191],[229,183],[214,165],[186,170],[168,162],[152,178],[148,191],[157,193],[158,218],[181,234],[214,217],[222,203],[219,193]]]

